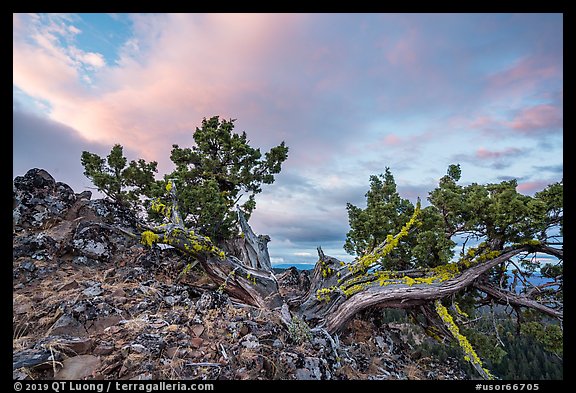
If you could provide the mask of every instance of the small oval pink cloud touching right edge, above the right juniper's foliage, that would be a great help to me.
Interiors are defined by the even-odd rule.
[[[563,127],[562,110],[553,105],[536,105],[521,110],[508,126],[519,132],[557,130]]]

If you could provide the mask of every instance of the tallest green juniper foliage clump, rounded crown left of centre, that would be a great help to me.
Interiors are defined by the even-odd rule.
[[[170,159],[176,170],[165,176],[176,180],[186,223],[217,241],[233,235],[236,204],[243,202],[249,218],[262,184],[274,182],[288,157],[284,142],[262,155],[249,145],[245,132],[233,129],[234,120],[204,119],[194,132],[195,146],[173,145]]]

